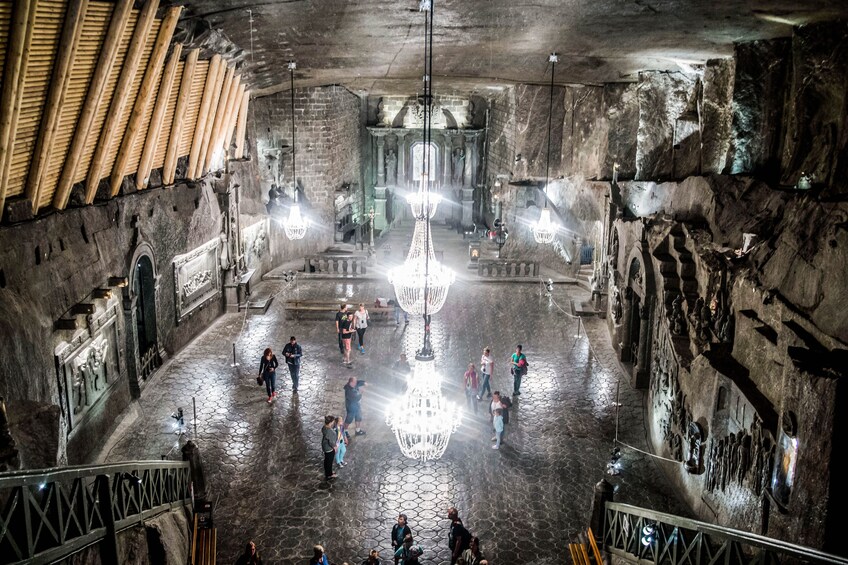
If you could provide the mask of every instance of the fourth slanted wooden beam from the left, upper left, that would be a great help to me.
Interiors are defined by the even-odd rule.
[[[150,28],[153,26],[153,20],[156,18],[156,10],[158,9],[159,0],[147,0],[135,24],[132,40],[130,40],[127,55],[124,57],[124,65],[118,77],[118,84],[115,86],[115,93],[112,95],[112,102],[109,105],[109,111],[106,113],[106,121],[103,122],[100,138],[97,140],[94,156],[92,156],[91,165],[88,167],[85,184],[86,204],[94,202],[94,196],[97,194],[97,187],[103,177],[103,168],[106,166],[106,159],[112,149],[112,143],[115,136],[120,134],[118,128],[121,126],[121,116],[124,114],[126,105],[131,102],[132,85],[138,73],[138,66],[144,54],[144,46],[147,44]]]

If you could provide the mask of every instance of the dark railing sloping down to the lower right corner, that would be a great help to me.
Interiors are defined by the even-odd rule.
[[[654,512],[629,504],[606,503],[605,549],[627,561],[668,565],[783,562],[848,564],[848,559],[757,534]]]

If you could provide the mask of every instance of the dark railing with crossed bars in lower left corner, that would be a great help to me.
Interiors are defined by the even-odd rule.
[[[98,542],[117,563],[117,532],[190,504],[190,484],[182,461],[0,473],[0,563],[51,563]]]

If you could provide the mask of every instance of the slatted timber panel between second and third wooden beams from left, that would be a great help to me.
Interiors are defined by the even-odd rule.
[[[103,46],[103,38],[112,17],[113,7],[112,4],[106,2],[89,2],[85,12],[82,35],[74,55],[70,84],[62,103],[54,147],[50,153],[50,163],[47,166],[47,175],[42,181],[45,186],[41,189],[39,208],[49,206],[53,202],[53,193],[59,182],[59,175],[62,174],[62,166],[65,164],[65,155],[71,144],[74,127],[82,111],[86,94],[88,94],[88,85],[94,74],[100,48]]]

